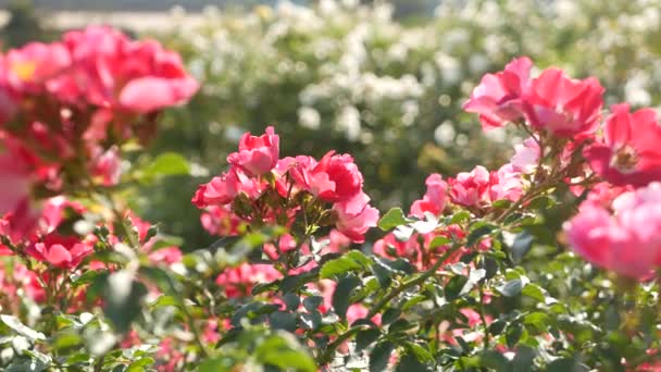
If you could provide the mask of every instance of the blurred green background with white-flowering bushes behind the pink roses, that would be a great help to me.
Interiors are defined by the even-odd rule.
[[[351,153],[382,210],[408,206],[429,173],[498,168],[521,134],[484,134],[461,104],[516,55],[596,76],[608,104],[661,104],[661,0],[10,0],[4,49],[109,24],[177,50],[202,90],[163,117],[151,156],[192,177],[128,197],[185,248],[213,240],[188,203],[245,131],[275,125],[283,156]]]

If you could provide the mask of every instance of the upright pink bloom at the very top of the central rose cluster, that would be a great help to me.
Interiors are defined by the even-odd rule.
[[[227,157],[229,164],[241,168],[250,175],[260,175],[275,168],[279,159],[279,137],[273,126],[260,137],[244,134],[239,141],[239,151]]]

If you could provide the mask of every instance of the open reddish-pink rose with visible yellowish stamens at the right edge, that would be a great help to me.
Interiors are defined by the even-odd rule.
[[[661,181],[661,126],[652,109],[629,113],[615,104],[603,138],[585,150],[593,170],[614,185],[645,186]]]

